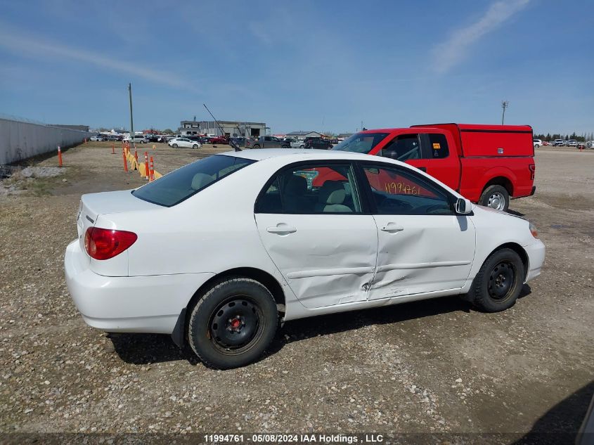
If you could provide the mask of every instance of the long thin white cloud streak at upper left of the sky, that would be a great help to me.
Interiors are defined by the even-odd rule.
[[[0,23],[1,25],[1,23]],[[174,88],[198,91],[195,84],[181,79],[173,73],[150,70],[146,67],[136,65],[137,60],[129,61],[105,56],[95,51],[77,49],[72,46],[47,41],[41,37],[30,37],[18,34],[15,30],[8,30],[0,26],[0,46],[31,58],[52,58],[60,60],[72,60],[80,63],[95,65],[103,70],[117,71],[133,77],[141,77],[150,82],[164,84]]]

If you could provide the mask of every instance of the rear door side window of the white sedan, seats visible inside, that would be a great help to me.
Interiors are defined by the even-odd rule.
[[[300,165],[276,174],[260,194],[256,213],[361,213],[350,165]]]

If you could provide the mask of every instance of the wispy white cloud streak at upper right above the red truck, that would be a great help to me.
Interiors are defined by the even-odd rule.
[[[477,22],[467,27],[452,32],[449,39],[438,44],[433,49],[434,69],[437,72],[446,72],[454,65],[460,63],[472,44],[481,37],[509,20],[513,15],[522,11],[530,0],[502,0],[489,6],[486,13]]]

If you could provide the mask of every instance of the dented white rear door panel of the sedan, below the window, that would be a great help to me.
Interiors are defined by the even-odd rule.
[[[305,307],[314,309],[367,299],[377,256],[377,229],[372,216],[255,217],[266,251]],[[279,227],[287,231],[278,232]]]

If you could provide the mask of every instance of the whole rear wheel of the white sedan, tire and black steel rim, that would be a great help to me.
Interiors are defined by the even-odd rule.
[[[188,321],[188,341],[205,365],[238,368],[262,355],[277,325],[269,290],[251,278],[233,277],[198,299]]]

